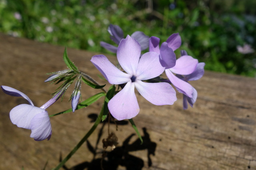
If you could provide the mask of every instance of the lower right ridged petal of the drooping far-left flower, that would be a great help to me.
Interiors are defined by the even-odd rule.
[[[50,139],[52,135],[52,127],[50,117],[47,111],[41,112],[31,120],[31,135],[35,141],[43,141]]]

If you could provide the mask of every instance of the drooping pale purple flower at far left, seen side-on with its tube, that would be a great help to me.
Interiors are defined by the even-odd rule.
[[[34,138],[35,141],[49,140],[52,135],[52,127],[48,112],[45,109],[56,102],[61,95],[57,94],[43,106],[36,107],[26,94],[8,86],[1,86],[1,88],[4,93],[10,96],[23,97],[30,103],[20,104],[10,111],[12,123],[18,127],[30,129],[30,137]]]

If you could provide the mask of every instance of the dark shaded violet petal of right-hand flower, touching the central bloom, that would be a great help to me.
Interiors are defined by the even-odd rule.
[[[176,64],[176,55],[166,42],[160,47],[160,58],[165,63],[165,69],[172,68]]]

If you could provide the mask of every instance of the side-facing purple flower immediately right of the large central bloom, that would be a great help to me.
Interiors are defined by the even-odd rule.
[[[198,60],[187,54],[182,55],[182,57],[176,60],[174,51],[181,45],[181,38],[178,33],[172,34],[166,42],[162,43],[160,48],[159,42],[160,39],[158,37],[150,37],[149,51],[159,54],[162,66],[165,66],[165,73],[169,79],[166,82],[171,82],[179,92],[191,98],[193,87],[188,82],[177,78],[173,73],[182,75],[191,74],[196,69]]]

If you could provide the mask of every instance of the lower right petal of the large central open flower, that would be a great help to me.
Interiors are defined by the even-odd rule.
[[[172,105],[176,100],[176,92],[169,83],[146,83],[136,81],[138,92],[154,105]]]

